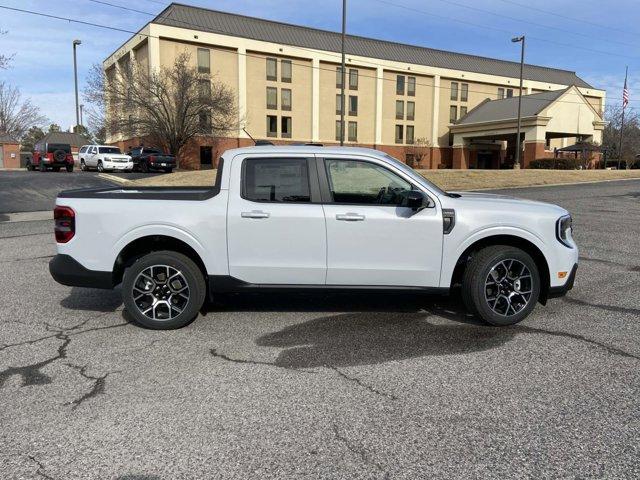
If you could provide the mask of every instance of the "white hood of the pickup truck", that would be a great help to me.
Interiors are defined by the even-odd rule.
[[[450,192],[460,195],[457,198],[444,197],[443,206],[445,208],[456,208],[458,206],[469,206],[473,208],[495,208],[500,210],[522,211],[530,213],[536,211],[538,213],[547,213],[552,216],[566,215],[568,212],[558,205],[552,203],[539,202],[536,200],[528,200],[525,198],[516,198],[509,195],[499,195],[497,193],[484,192]]]

